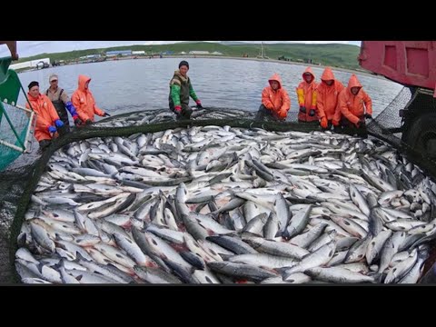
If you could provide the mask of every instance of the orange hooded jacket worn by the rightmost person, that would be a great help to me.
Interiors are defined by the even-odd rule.
[[[353,95],[352,87],[359,87],[359,93]],[[362,84],[355,74],[352,74],[350,77],[347,88],[344,88],[339,94],[338,105],[342,115],[352,122],[352,124],[357,124],[357,122],[362,120],[365,114],[364,107],[366,107],[366,114],[372,114],[371,97],[362,90]]]

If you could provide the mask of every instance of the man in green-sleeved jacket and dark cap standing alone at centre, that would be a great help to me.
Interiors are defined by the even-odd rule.
[[[168,97],[170,110],[176,114],[177,119],[190,119],[193,109],[189,106],[189,97],[197,104],[197,108],[203,108],[202,102],[193,91],[191,79],[187,73],[189,64],[187,61],[181,61],[179,69],[174,72],[170,82],[170,95]]]

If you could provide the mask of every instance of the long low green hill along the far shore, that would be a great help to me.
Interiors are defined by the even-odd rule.
[[[208,43],[208,42],[189,42],[173,45],[126,45],[115,46],[109,48],[87,49],[55,54],[38,54],[31,57],[21,58],[16,63],[27,60],[36,60],[49,57],[51,62],[65,60],[77,60],[81,56],[89,54],[104,54],[106,51],[113,50],[144,50],[146,54],[161,54],[164,52],[172,52],[180,54],[181,52],[189,53],[190,51],[209,51],[220,52],[225,56],[248,56],[256,57],[260,54],[261,45],[258,44],[240,44],[230,42]],[[263,45],[264,54],[270,59],[285,58],[290,61],[308,62],[312,59],[312,63],[322,65],[331,65],[333,67],[341,67],[348,69],[359,68],[357,56],[360,48],[357,45],[305,45],[305,44],[265,44]]]

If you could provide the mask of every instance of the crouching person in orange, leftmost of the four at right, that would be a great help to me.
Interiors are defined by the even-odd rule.
[[[262,104],[257,112],[256,119],[263,120],[265,117],[271,120],[286,120],[291,99],[282,87],[282,78],[279,74],[273,74],[268,80],[270,86],[266,86],[262,92]]]

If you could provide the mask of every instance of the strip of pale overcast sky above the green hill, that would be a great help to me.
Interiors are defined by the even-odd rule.
[[[164,45],[181,41],[17,41],[17,51],[21,58],[36,54],[52,54],[73,50],[105,48],[119,45]],[[218,42],[218,41],[207,41]],[[244,42],[244,41],[243,41]],[[249,43],[260,43],[262,41],[246,41]],[[361,41],[264,41],[265,43],[306,43],[326,44],[342,43],[349,45],[361,45]],[[6,45],[0,45],[0,57],[10,55]]]

